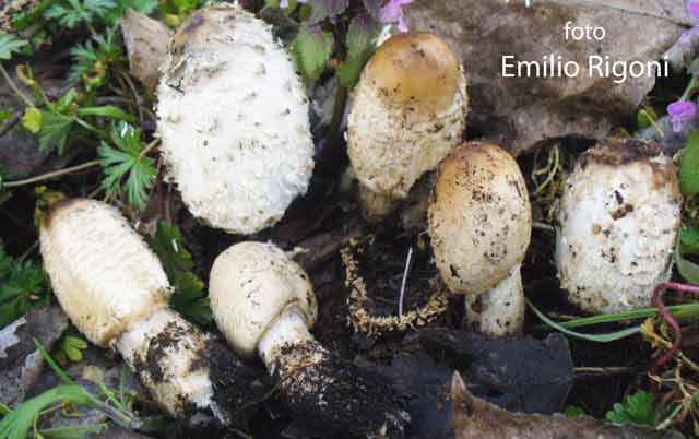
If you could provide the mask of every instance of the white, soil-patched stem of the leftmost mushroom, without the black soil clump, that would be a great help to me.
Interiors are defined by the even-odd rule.
[[[167,308],[139,322],[114,344],[170,413],[178,412],[175,404],[188,401],[196,408],[211,408],[218,420],[227,424],[227,416],[212,399],[208,345],[209,335]]]

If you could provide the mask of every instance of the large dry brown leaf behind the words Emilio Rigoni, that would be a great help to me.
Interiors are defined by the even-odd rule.
[[[415,31],[446,37],[464,61],[473,132],[519,154],[562,135],[601,137],[631,116],[655,78],[591,78],[591,55],[612,61],[659,60],[690,26],[679,0],[418,0],[405,9]],[[566,40],[564,26],[606,29],[603,40]],[[503,55],[577,60],[577,78],[502,78]]]

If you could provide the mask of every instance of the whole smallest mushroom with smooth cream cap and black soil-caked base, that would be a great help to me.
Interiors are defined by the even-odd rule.
[[[221,331],[240,356],[260,355],[300,422],[325,437],[404,437],[407,414],[384,380],[310,334],[318,315],[312,285],[281,249],[228,248],[214,262],[210,290]]]

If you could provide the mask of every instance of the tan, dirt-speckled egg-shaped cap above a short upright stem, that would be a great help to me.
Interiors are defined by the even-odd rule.
[[[464,143],[439,165],[428,233],[452,293],[490,289],[524,260],[532,210],[512,156],[489,143]]]

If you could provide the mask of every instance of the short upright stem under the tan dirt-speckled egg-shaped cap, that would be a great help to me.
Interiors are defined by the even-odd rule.
[[[490,336],[522,332],[525,302],[520,266],[491,289],[466,296],[466,319],[475,332]]]

